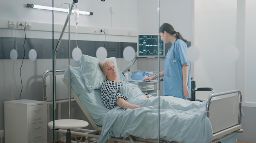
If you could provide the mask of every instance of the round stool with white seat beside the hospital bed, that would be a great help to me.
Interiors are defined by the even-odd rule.
[[[54,128],[56,129],[67,129],[66,132],[66,143],[71,143],[71,132],[70,129],[74,128],[83,128],[88,126],[87,121],[78,120],[78,119],[58,119],[54,120]],[[53,128],[53,121],[48,123],[50,128]]]

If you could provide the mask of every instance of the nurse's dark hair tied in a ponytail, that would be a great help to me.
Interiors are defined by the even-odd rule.
[[[182,39],[184,42],[188,42],[188,40],[186,40],[182,37],[180,32],[177,32],[174,30],[174,28],[173,28],[173,26],[171,26],[171,24],[168,24],[168,23],[162,24],[162,26],[159,28],[159,32],[163,33],[164,31],[166,31],[167,33],[169,33],[171,35],[175,34],[177,39]]]

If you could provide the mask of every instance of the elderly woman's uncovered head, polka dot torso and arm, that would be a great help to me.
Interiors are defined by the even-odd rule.
[[[120,93],[120,89],[123,85],[129,84],[129,82],[124,82],[117,79],[117,68],[115,63],[110,59],[106,59],[100,62],[100,68],[102,73],[107,77],[101,86],[101,99],[108,109],[112,109],[117,104],[121,108],[135,109],[140,108],[140,106],[135,104],[130,104],[126,102],[127,96]],[[146,95],[148,98],[150,95]]]

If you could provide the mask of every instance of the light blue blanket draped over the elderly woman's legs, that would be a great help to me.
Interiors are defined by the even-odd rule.
[[[128,96],[129,103],[141,108],[124,110],[116,106],[108,111],[103,119],[99,143],[106,143],[110,137],[129,135],[158,139],[158,119],[161,139],[180,143],[211,142],[213,132],[210,120],[205,115],[205,102],[192,102],[172,96],[146,98],[133,84],[124,85],[121,93]]]

